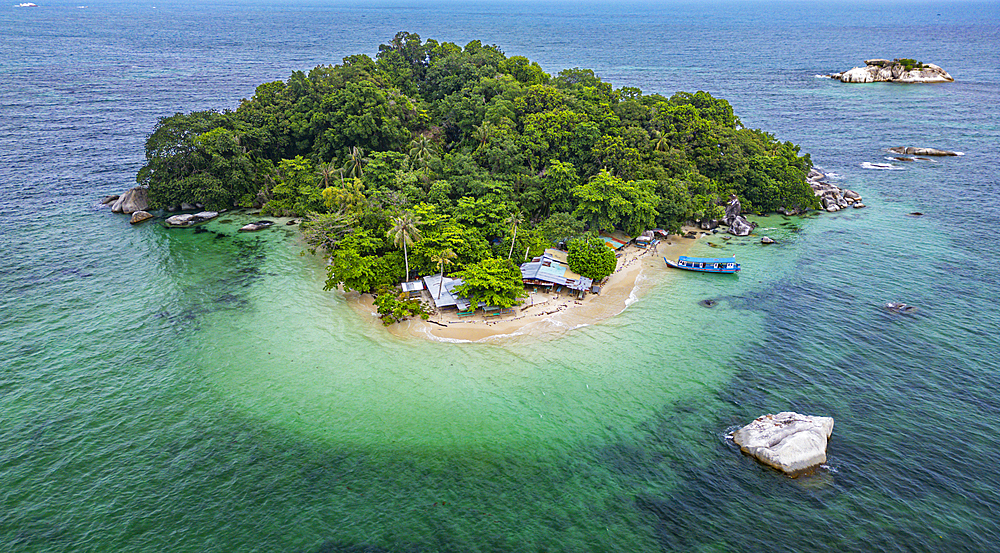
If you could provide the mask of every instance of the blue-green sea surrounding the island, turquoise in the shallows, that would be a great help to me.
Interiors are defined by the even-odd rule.
[[[0,551],[1000,551],[1000,5],[83,1],[0,7]],[[738,278],[644,273],[600,324],[445,343],[323,292],[291,227],[98,204],[159,117],[400,30],[708,91],[868,207],[758,219]],[[955,82],[817,77],[875,57]],[[965,155],[863,167],[890,146]],[[784,410],[836,420],[813,476],[725,439]]]

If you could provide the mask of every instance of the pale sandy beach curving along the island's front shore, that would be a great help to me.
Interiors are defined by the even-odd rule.
[[[694,228],[685,232],[705,233]],[[411,319],[386,327],[401,337],[419,337],[441,341],[506,341],[528,337],[551,339],[581,326],[591,325],[613,317],[636,301],[643,292],[655,285],[657,276],[670,271],[663,258],[676,259],[685,255],[696,239],[671,235],[661,240],[655,248],[625,246],[620,250],[615,272],[601,287],[600,294],[587,294],[582,300],[576,295],[556,294],[544,288],[526,287],[523,303],[509,315],[485,317],[478,311],[470,317],[458,317],[454,310],[431,315],[427,321]],[[646,278],[640,279],[640,276]],[[430,296],[424,291],[424,301]],[[369,294],[346,295],[351,307],[366,318],[378,321],[374,298]]]

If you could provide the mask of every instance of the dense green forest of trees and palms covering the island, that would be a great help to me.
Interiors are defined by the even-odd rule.
[[[705,92],[615,89],[400,32],[375,59],[296,71],[235,111],[162,118],[137,180],[154,208],[303,217],[328,287],[371,292],[431,273],[516,279],[512,262],[561,240],[678,230],[721,218],[729,194],[744,211],[815,208],[810,165]]]

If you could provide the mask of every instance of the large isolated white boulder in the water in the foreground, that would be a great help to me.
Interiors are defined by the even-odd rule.
[[[758,417],[733,432],[733,441],[743,453],[797,476],[826,462],[826,444],[832,433],[831,417],[784,411]]]

